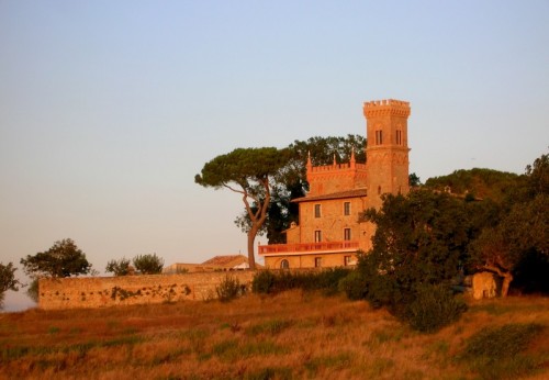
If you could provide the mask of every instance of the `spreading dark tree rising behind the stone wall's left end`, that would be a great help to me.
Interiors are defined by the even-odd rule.
[[[34,256],[27,255],[21,259],[24,271],[31,278],[70,277],[87,275],[91,271],[91,264],[86,255],[70,238],[55,242],[46,252]]]

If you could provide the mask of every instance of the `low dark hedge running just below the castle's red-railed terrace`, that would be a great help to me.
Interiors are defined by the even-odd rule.
[[[320,290],[326,295],[339,291],[339,282],[350,272],[347,268],[326,268],[322,271],[269,271],[254,276],[253,291],[256,293],[278,293],[291,289]]]

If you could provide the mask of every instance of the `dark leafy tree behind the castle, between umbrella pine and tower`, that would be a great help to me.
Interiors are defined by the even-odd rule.
[[[314,166],[348,163],[352,154],[359,164],[366,161],[366,138],[361,135],[311,137],[306,141],[294,141],[288,146],[288,157],[279,175],[271,181],[270,205],[267,217],[258,235],[267,235],[269,244],[285,243],[284,230],[291,222],[299,220],[299,204],[292,202],[304,197],[309,190],[306,181],[306,163],[309,157]],[[253,202],[251,210],[258,205]],[[251,220],[247,210],[238,215],[235,224],[244,232],[250,230]]]

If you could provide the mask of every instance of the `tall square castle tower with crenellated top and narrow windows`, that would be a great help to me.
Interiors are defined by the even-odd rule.
[[[370,205],[381,205],[381,194],[410,191],[410,103],[400,100],[365,102],[367,189]]]

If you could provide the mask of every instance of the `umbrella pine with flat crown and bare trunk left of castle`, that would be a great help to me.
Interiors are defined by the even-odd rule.
[[[271,201],[271,181],[288,163],[288,150],[274,147],[237,148],[206,163],[194,181],[203,187],[229,189],[242,194],[249,225],[248,261],[256,268],[254,242],[261,230]]]

